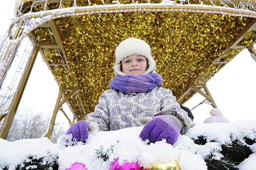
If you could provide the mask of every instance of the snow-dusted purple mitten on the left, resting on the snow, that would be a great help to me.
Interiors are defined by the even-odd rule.
[[[66,134],[72,134],[76,141],[82,141],[85,143],[89,135],[89,123],[85,120],[80,120],[73,124]]]

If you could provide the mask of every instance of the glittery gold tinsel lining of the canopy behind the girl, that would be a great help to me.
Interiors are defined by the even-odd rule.
[[[225,63],[242,50],[229,50],[228,46],[250,21],[252,18],[248,17],[186,12],[63,17],[56,19],[55,24],[71,70],[67,71],[63,66],[51,66],[51,69],[61,88],[80,89],[86,112],[90,113],[114,77],[115,47],[125,38],[137,37],[151,46],[164,87],[179,97],[190,85],[207,82],[225,65],[213,64],[219,56],[223,54],[219,62]],[[41,29],[36,38],[44,39],[46,32]],[[244,41],[252,39],[255,33],[252,34]],[[56,50],[45,49],[43,52],[49,64],[63,62]],[[181,103],[193,94],[188,93]],[[75,114],[82,113],[77,99],[69,102]]]

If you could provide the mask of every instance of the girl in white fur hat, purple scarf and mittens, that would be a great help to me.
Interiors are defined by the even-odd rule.
[[[145,41],[122,41],[116,47],[113,68],[116,77],[110,82],[111,88],[102,93],[94,112],[73,124],[67,134],[85,143],[95,126],[110,131],[146,124],[140,134],[142,140],[155,143],[166,139],[173,145],[180,133],[193,126],[172,91],[161,87],[163,78],[155,72],[156,63]]]

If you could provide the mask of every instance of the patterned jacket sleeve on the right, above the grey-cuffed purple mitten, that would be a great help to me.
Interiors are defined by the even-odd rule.
[[[180,104],[176,101],[176,97],[172,95],[170,89],[166,90],[164,99],[161,104],[161,111],[157,115],[173,115],[181,120],[183,123],[183,128],[181,134],[184,135],[187,130],[193,127],[191,119],[189,119],[187,112],[185,112]]]

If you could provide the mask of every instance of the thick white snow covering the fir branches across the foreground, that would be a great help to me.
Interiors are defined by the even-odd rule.
[[[86,144],[72,142],[71,135],[60,136],[57,143],[52,143],[46,137],[14,142],[0,139],[0,168],[9,166],[9,170],[14,170],[15,166],[21,164],[29,155],[36,155],[38,158],[45,156],[44,159],[48,161],[53,161],[53,157],[58,156],[59,170],[70,168],[75,162],[85,164],[89,170],[108,170],[111,161],[116,157],[119,157],[120,163],[138,161],[143,167],[168,163],[176,159],[182,170],[207,170],[204,162],[206,155],[212,153],[214,159],[220,159],[223,155],[214,150],[221,150],[221,144],[230,141],[231,134],[233,139],[241,141],[244,141],[244,136],[255,139],[255,124],[256,120],[196,124],[186,135],[180,136],[173,146],[165,140],[148,145],[147,141],[139,138],[143,127],[93,132]],[[207,141],[205,145],[195,144],[191,138],[196,139],[201,135],[215,141]],[[255,167],[256,143],[249,147],[253,154],[240,163],[240,170],[252,170]],[[108,153],[109,159],[104,161],[98,158],[96,150]],[[53,155],[50,156],[49,152]]]

